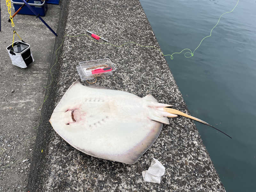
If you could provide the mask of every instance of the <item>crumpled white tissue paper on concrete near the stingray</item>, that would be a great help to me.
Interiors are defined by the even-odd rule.
[[[144,181],[160,184],[161,176],[164,175],[164,172],[164,166],[160,163],[160,161],[153,158],[148,170],[142,172],[142,177]]]

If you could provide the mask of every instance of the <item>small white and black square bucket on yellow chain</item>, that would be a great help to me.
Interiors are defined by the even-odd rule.
[[[15,41],[13,43],[13,52],[10,53],[11,48],[12,44],[6,47],[6,50],[9,53],[13,65],[20,68],[26,68],[34,61],[33,55],[30,52],[29,44],[21,41]]]

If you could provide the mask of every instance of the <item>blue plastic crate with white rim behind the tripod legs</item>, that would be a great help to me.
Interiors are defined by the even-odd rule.
[[[24,4],[22,0],[11,0],[13,7],[15,9],[15,12]],[[48,10],[48,6],[45,1],[41,0],[29,0],[28,4],[35,10],[37,14],[40,16],[45,16],[45,13]],[[25,5],[18,14],[24,14],[24,15],[35,15],[28,7]]]

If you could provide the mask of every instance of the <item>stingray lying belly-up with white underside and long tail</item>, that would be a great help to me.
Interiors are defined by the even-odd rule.
[[[74,148],[91,156],[134,164],[157,139],[163,123],[169,124],[167,117],[181,115],[211,126],[170,107],[158,103],[152,95],[140,98],[129,92],[84,86],[76,81],[63,95],[49,121]]]

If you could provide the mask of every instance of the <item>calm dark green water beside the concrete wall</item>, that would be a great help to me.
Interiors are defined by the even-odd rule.
[[[140,0],[164,54],[194,51],[236,0]],[[256,1],[223,15],[194,57],[166,57],[228,192],[256,191]]]

